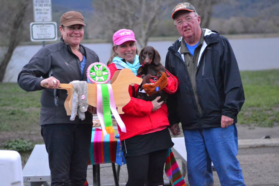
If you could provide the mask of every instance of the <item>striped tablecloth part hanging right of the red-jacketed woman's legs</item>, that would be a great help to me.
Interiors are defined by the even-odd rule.
[[[169,178],[172,186],[186,186],[176,159],[174,158],[174,153],[171,149],[169,149],[169,155],[166,160],[165,173]]]

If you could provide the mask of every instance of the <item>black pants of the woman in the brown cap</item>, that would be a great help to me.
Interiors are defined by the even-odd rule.
[[[49,154],[51,186],[84,186],[92,125],[43,125],[41,134]]]

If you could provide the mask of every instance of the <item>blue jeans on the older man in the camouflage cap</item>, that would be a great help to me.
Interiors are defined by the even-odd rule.
[[[221,185],[244,185],[239,161],[237,128],[201,128],[184,130],[187,151],[187,175],[190,185],[213,185],[211,161]]]

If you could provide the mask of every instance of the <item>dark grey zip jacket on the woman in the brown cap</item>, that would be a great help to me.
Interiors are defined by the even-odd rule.
[[[51,75],[60,83],[70,83],[74,80],[87,81],[86,69],[94,62],[99,62],[99,57],[91,49],[80,45],[80,51],[86,57],[83,77],[78,57],[71,51],[70,46],[62,40],[58,43],[42,47],[19,73],[17,82],[26,91],[42,90],[40,125],[44,124],[91,124],[92,114],[85,112],[85,119],[78,117],[70,121],[64,108],[67,91],[57,89],[58,105],[54,103],[54,89],[40,86],[44,78]]]

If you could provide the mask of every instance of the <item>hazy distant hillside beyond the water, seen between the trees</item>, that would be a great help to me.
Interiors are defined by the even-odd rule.
[[[94,16],[92,2],[93,0],[52,0],[53,21],[59,25],[60,17],[64,12],[75,10],[82,13],[87,24],[85,39],[107,39],[106,31],[99,24],[100,20],[96,20]],[[173,7],[166,8],[167,12],[171,12]],[[195,8],[198,10],[198,7]],[[205,20],[203,17],[201,19]],[[278,20],[279,0],[228,0],[213,7],[208,28],[221,34],[279,33]],[[153,31],[152,36],[179,36],[179,34],[174,29],[173,20],[166,15]],[[29,40],[29,37],[26,37],[26,40]]]

